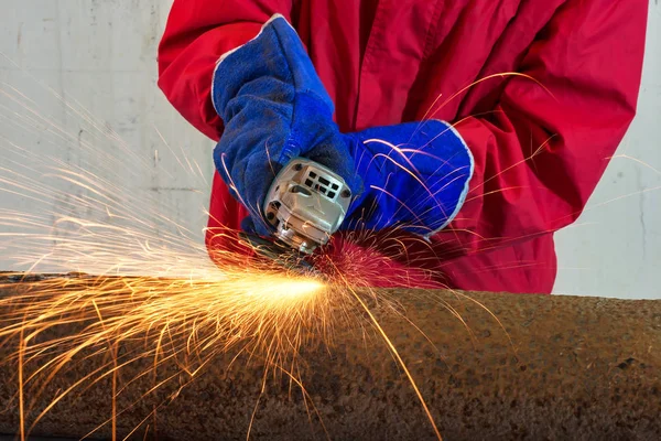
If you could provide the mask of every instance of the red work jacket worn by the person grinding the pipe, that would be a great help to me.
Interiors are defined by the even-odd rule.
[[[647,10],[648,0],[175,0],[159,85],[217,140],[216,62],[283,14],[340,130],[437,118],[475,157],[465,205],[431,243],[340,236],[326,250],[336,265],[372,286],[548,293],[553,233],[578,217],[635,116]],[[523,75],[497,75],[512,72]],[[216,173],[209,248],[225,246],[214,230],[246,215]]]

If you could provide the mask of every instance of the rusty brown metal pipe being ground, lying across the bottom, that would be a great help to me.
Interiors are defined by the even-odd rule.
[[[12,290],[6,287],[0,295]],[[444,439],[661,439],[661,301],[470,293],[501,329],[483,306],[453,293],[395,293],[408,320],[379,308],[375,313]],[[8,351],[0,349],[0,356]],[[239,357],[228,368],[232,356],[219,357],[159,409],[158,439],[246,439],[263,366]],[[434,439],[413,389],[375,334],[339,330],[329,348],[306,347],[300,359],[315,410],[306,410],[300,389],[290,389],[286,378],[271,379],[259,400],[251,439]],[[90,367],[80,363],[77,369]],[[149,366],[134,369],[121,378]],[[18,430],[14,374],[10,366],[0,370],[2,433]],[[67,378],[55,378],[50,389],[66,386]],[[137,402],[119,416],[120,434],[172,392],[139,399],[147,388],[149,383],[132,384],[118,404]],[[80,438],[109,416],[109,384],[100,383],[58,404],[33,433]],[[108,435],[108,428],[95,434]]]

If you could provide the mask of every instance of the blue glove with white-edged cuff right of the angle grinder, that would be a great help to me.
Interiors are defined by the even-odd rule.
[[[345,136],[365,191],[342,229],[398,227],[429,237],[462,207],[473,155],[462,137],[438,120],[376,127]]]

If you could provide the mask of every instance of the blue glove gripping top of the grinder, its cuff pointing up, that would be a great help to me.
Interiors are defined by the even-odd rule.
[[[214,161],[250,212],[243,229],[270,235],[262,204],[275,174],[295,157],[328,166],[354,195],[360,194],[362,181],[333,121],[333,101],[299,35],[281,15],[220,58],[212,95],[225,123]]]

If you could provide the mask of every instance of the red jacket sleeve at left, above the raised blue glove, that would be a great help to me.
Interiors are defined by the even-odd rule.
[[[290,20],[292,0],[175,0],[159,46],[159,87],[194,127],[218,140],[212,105],[216,62],[258,34],[271,15]]]

